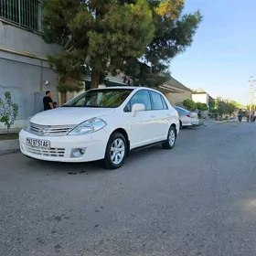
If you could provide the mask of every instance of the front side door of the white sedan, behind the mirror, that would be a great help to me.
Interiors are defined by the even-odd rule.
[[[133,104],[144,104],[144,112],[137,112],[133,116],[132,108]],[[154,124],[152,122],[152,105],[150,100],[150,94],[147,90],[137,91],[133,98],[128,102],[124,108],[125,115],[129,120],[129,140],[130,148],[136,148],[152,143],[154,135]]]

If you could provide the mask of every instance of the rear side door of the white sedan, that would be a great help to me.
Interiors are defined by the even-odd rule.
[[[155,143],[163,141],[167,138],[170,123],[170,114],[168,112],[168,107],[166,105],[165,99],[160,93],[156,91],[150,91],[150,96],[153,108],[152,119],[154,122]]]

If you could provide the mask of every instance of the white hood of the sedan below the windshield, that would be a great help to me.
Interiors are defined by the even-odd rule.
[[[30,122],[40,125],[74,125],[113,112],[114,109],[63,107],[39,112],[30,119]]]

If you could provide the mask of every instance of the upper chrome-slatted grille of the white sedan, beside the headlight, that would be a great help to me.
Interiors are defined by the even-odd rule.
[[[75,125],[48,126],[30,123],[29,132],[39,136],[64,136],[67,135],[67,133],[69,133],[74,127]]]

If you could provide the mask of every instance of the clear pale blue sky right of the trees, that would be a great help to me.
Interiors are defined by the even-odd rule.
[[[186,0],[185,13],[197,9],[203,21],[192,46],[172,60],[171,75],[188,88],[248,104],[249,80],[256,79],[256,0]]]

